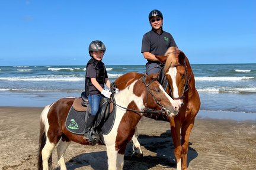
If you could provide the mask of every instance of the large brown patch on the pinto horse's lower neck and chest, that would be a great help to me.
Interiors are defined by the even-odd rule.
[[[139,110],[134,101],[130,102],[127,107],[129,109]],[[139,114],[128,110],[126,111],[126,113],[124,113],[124,116],[122,117],[119,124],[119,128],[117,129],[115,148],[116,151],[119,150],[118,153],[124,155],[126,145],[132,139],[132,136],[135,133],[136,125],[141,117],[142,116],[140,116]]]

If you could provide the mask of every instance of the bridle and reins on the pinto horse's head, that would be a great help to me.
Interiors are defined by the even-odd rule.
[[[139,110],[134,110],[134,109],[129,109],[127,107],[123,107],[123,106],[120,106],[119,104],[116,104],[116,102],[113,102],[112,100],[110,100],[111,103],[113,103],[115,106],[119,106],[121,107],[122,109],[125,109],[125,110],[129,110],[129,111],[132,111],[132,112],[135,112],[135,113],[155,113],[155,114],[159,114],[159,113],[162,113],[164,115],[164,113],[167,114],[167,116],[171,115],[171,112],[166,109],[164,107],[163,104],[161,104],[161,102],[159,102],[159,100],[156,99],[156,97],[153,95],[153,93],[151,92],[151,90],[148,89],[149,85],[153,82],[153,81],[157,81],[157,79],[152,79],[148,84],[146,83],[146,76],[143,76],[141,77],[139,80],[142,80],[142,82],[145,84],[146,86],[146,102],[144,103],[146,107],[148,107],[148,93],[151,94],[151,96],[153,97],[153,99],[155,100],[155,102],[161,106],[161,110],[155,110],[155,111],[139,111]]]

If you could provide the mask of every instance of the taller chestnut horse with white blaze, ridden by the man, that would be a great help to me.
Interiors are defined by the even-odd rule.
[[[144,116],[170,123],[177,169],[185,170],[187,169],[188,139],[194,126],[194,119],[200,109],[199,93],[196,90],[194,74],[190,63],[183,51],[170,47],[164,56],[156,56],[156,58],[165,63],[163,70],[164,78],[167,80],[165,90],[175,100],[180,109],[175,117],[160,114],[145,114]],[[117,79],[115,82],[119,89],[127,86],[125,83],[122,83],[123,80]],[[129,80],[127,84],[129,84]],[[139,141],[135,136],[133,136],[132,140],[136,152],[142,155]]]

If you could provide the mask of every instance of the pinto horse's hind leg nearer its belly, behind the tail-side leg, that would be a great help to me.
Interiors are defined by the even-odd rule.
[[[70,143],[71,142],[63,142],[62,140],[60,140],[59,145],[57,146],[57,156],[59,160],[58,162],[60,169],[62,170],[66,170],[65,152]]]

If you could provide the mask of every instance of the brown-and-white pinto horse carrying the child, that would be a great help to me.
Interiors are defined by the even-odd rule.
[[[129,80],[129,86],[114,94],[116,118],[113,128],[104,135],[108,169],[123,168],[126,145],[132,139],[144,110],[161,110],[161,114],[170,118],[178,113],[178,104],[156,81],[158,74],[134,75],[135,73],[127,73],[121,76],[120,79]],[[57,156],[60,169],[66,169],[64,153],[71,141],[89,145],[88,140],[83,139],[84,135],[71,133],[65,126],[66,117],[75,99],[75,97],[62,98],[44,107],[40,117],[38,169],[52,169],[52,152],[57,143],[59,143]]]

